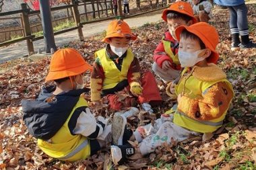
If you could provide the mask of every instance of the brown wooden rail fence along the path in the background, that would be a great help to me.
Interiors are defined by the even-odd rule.
[[[153,3],[154,2],[154,3]],[[92,7],[91,11],[88,11],[88,5]],[[135,8],[134,13],[137,13],[139,15],[140,13],[143,13],[141,9],[143,7],[148,7],[147,9],[158,9],[159,7],[165,7],[166,6],[166,0],[135,0]],[[79,7],[84,6],[84,12],[79,11]],[[10,44],[14,44],[16,42],[21,42],[26,40],[27,47],[28,47],[28,54],[34,54],[34,46],[33,42],[36,40],[41,40],[44,38],[44,36],[35,36],[34,33],[42,30],[42,24],[30,24],[30,17],[33,15],[38,15],[40,17],[40,11],[30,11],[28,9],[26,3],[21,4],[20,10],[15,11],[8,11],[4,13],[0,13],[0,19],[20,19],[20,28],[15,28],[13,30],[1,30],[1,33],[8,33],[8,32],[21,32],[22,38],[16,38],[14,40],[7,40],[5,42],[0,43],[1,46],[8,46]],[[80,7],[81,8],[81,7]],[[71,15],[67,15],[67,17],[59,18],[59,19],[53,19],[53,23],[57,23],[60,20],[71,20],[75,22],[75,26],[71,28],[67,28],[64,30],[60,30],[57,32],[54,32],[54,35],[63,34],[65,32],[69,32],[72,30],[77,30],[79,40],[84,40],[84,36],[82,33],[82,27],[84,24],[90,24],[92,22],[98,22],[110,18],[115,18],[115,15],[113,13],[113,0],[72,0],[70,5],[63,5],[59,7],[51,7],[51,11],[59,11],[59,10],[67,10],[67,13],[69,13],[69,9],[71,9]],[[147,11],[150,12],[150,11]],[[15,17],[10,17],[10,15],[18,15]],[[54,26],[55,24],[53,24]],[[40,29],[38,29],[40,27]],[[36,28],[36,31],[34,30]],[[9,36],[11,33],[9,33]]]

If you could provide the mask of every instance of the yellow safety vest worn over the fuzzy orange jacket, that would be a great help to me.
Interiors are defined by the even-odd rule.
[[[183,71],[182,75],[185,73],[185,71],[186,70]],[[232,89],[231,83],[228,82],[226,79],[219,79],[216,81],[201,81],[191,75],[189,76],[189,78],[187,78],[186,76],[183,76],[181,78],[179,84],[175,86],[175,92],[177,94],[181,94],[184,90],[184,93],[189,95],[189,98],[193,99],[196,97],[201,97],[205,89],[211,87],[218,82],[225,82],[228,87]],[[206,133],[214,132],[222,126],[228,109],[226,110],[226,112],[224,112],[224,114],[222,114],[222,116],[220,116],[220,118],[216,118],[210,121],[195,120],[187,116],[185,113],[179,112],[175,107],[172,108],[172,110],[174,111],[174,124],[187,128],[189,130],[193,130],[195,132]]]

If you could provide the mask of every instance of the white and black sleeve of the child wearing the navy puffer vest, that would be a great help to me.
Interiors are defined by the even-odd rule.
[[[89,108],[83,109],[82,112],[78,114],[74,112],[69,121],[69,129],[71,128],[71,122],[74,122],[74,120],[76,120],[76,124],[73,129],[73,134],[82,134],[90,139],[98,138],[106,126],[106,122],[103,121],[104,118],[101,117],[101,121],[96,120]]]

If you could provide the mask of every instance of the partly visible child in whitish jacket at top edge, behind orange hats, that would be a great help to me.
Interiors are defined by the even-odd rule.
[[[197,22],[208,22],[212,19],[212,3],[208,0],[193,0],[193,11]]]

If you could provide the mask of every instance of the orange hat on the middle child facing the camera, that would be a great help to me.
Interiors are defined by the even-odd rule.
[[[137,37],[131,33],[131,29],[128,24],[121,19],[116,19],[108,24],[108,28],[106,29],[106,37],[102,40],[102,42],[109,43],[108,38],[112,37],[131,37],[131,40],[137,39]]]

